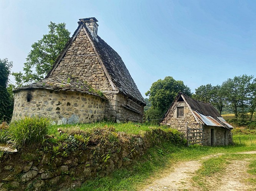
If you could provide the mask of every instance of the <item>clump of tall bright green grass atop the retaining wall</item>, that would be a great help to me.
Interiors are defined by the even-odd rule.
[[[25,117],[13,121],[7,129],[6,140],[16,147],[28,146],[43,140],[51,122],[48,118]]]

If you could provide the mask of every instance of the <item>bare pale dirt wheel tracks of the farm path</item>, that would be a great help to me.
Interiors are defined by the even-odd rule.
[[[237,154],[256,154],[256,151],[239,152]],[[179,163],[174,170],[170,170],[164,177],[152,181],[147,185],[143,191],[161,191],[161,190],[200,190],[200,188],[192,186],[191,178],[201,167],[201,160],[210,157],[218,157],[222,155],[215,154],[203,157],[200,160],[192,160],[188,162]],[[210,190],[220,191],[240,191],[240,190],[254,190],[252,185],[246,183],[244,179],[249,178],[246,171],[248,168],[249,160],[232,160],[225,169],[225,173],[216,173],[215,176],[206,180],[207,187]]]

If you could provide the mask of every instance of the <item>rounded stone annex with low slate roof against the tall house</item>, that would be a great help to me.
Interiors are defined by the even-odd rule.
[[[48,117],[61,125],[101,121],[104,117],[106,98],[70,75],[52,75],[14,92],[12,120]]]

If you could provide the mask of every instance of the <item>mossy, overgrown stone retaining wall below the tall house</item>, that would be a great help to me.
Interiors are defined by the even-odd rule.
[[[95,129],[89,136],[89,141],[83,144],[70,135],[64,142],[55,145],[45,141],[45,145],[36,150],[6,156],[0,163],[0,190],[77,188],[86,179],[104,176],[129,165],[153,145],[163,141],[180,141],[180,134],[161,129],[152,129],[143,136],[128,136],[112,129]]]

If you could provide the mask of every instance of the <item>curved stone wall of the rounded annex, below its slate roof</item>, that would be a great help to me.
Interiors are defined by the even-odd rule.
[[[101,121],[104,110],[105,100],[95,95],[47,89],[22,90],[15,93],[12,120],[37,115],[51,118],[59,125],[90,123]]]

